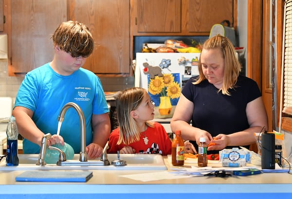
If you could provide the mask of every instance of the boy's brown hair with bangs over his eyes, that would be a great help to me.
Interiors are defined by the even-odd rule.
[[[54,46],[58,46],[73,57],[88,57],[94,48],[89,28],[77,21],[62,22],[52,35]]]

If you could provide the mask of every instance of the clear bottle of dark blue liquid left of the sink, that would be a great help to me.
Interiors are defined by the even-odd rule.
[[[7,134],[7,150],[6,150],[6,165],[17,166],[18,160],[18,128],[15,122],[15,117],[11,116],[6,129]]]

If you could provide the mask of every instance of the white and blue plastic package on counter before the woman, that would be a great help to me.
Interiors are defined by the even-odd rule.
[[[239,148],[223,149],[220,151],[222,166],[241,167],[251,162],[251,153]]]

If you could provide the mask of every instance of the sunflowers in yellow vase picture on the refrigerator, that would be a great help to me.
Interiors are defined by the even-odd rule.
[[[181,94],[180,73],[166,73],[153,79],[147,76],[148,93],[155,103],[155,117],[171,118]]]

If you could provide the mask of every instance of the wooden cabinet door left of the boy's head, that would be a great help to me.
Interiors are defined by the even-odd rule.
[[[25,74],[54,57],[51,35],[67,19],[67,0],[11,0],[9,72]]]

